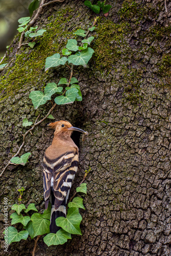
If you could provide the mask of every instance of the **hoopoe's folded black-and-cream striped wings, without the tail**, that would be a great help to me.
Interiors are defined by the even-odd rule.
[[[51,193],[55,196],[54,207],[57,209],[65,200],[67,203],[69,189],[78,167],[78,153],[67,152],[56,159],[44,157],[44,198],[48,207]]]

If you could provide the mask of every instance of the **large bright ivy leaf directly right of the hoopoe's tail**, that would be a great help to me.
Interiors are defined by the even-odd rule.
[[[81,234],[81,230],[79,227],[81,220],[82,217],[79,214],[79,209],[76,207],[71,207],[68,209],[66,218],[59,217],[56,219],[56,225],[71,234]]]

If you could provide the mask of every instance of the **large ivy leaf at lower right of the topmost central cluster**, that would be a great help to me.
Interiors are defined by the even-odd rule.
[[[88,47],[86,50],[82,50],[81,52],[77,52],[76,54],[69,56],[68,62],[76,66],[82,65],[83,67],[87,67],[93,53],[94,50]]]

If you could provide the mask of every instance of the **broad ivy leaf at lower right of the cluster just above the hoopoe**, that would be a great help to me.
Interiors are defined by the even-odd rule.
[[[55,98],[55,103],[57,105],[64,105],[73,103],[76,99],[78,90],[76,88],[72,88],[66,92],[66,96],[58,96]]]

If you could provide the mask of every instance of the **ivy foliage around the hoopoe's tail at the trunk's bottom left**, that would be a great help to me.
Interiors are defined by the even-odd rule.
[[[86,183],[81,184],[84,187],[84,190],[81,190],[81,193],[87,194]],[[79,188],[79,187],[77,187]],[[19,199],[22,200],[22,195],[24,187],[18,189],[20,193]],[[18,199],[18,200],[19,200]],[[20,202],[19,200],[19,202]],[[83,199],[76,197],[72,202],[68,204],[68,212],[66,218],[59,217],[56,219],[56,225],[61,227],[56,233],[50,233],[50,218],[51,218],[51,204],[49,203],[48,209],[44,211],[43,214],[39,214],[35,204],[31,203],[27,207],[25,204],[13,204],[11,209],[15,212],[11,214],[10,218],[12,219],[11,225],[16,223],[22,224],[22,229],[17,230],[13,226],[8,227],[8,245],[13,242],[19,242],[20,240],[26,240],[28,237],[31,239],[45,235],[44,242],[50,245],[59,245],[67,242],[68,239],[71,239],[71,234],[80,234],[80,222],[82,220],[81,215],[79,214],[79,208],[85,209],[82,204]],[[29,214],[28,214],[29,212]],[[31,215],[30,215],[31,212]],[[4,231],[5,233],[5,231]]]

